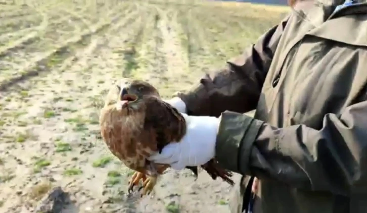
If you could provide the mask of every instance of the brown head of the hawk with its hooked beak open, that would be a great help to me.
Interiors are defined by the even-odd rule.
[[[129,107],[131,109],[139,109],[144,95],[153,95],[159,97],[156,88],[151,84],[141,80],[134,80],[130,84],[117,85],[119,89],[119,101],[121,107]]]

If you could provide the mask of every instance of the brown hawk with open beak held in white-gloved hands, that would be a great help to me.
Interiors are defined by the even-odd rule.
[[[141,196],[149,194],[159,175],[169,165],[155,164],[147,158],[155,152],[161,152],[168,143],[180,141],[186,134],[185,118],[170,104],[160,98],[160,94],[151,84],[133,80],[129,85],[116,84],[107,95],[101,110],[100,127],[102,138],[109,150],[134,170],[129,181],[128,192],[142,180]],[[211,159],[201,166],[212,179],[221,177],[233,185],[232,173],[221,169]],[[198,167],[187,167],[195,177]]]

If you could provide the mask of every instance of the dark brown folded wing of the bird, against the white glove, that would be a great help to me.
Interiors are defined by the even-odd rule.
[[[143,97],[146,105],[144,129],[154,131],[158,151],[170,142],[178,142],[186,134],[185,118],[170,104],[156,96]]]

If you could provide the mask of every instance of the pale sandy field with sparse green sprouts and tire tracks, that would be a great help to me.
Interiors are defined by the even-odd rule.
[[[229,212],[231,187],[169,171],[127,197],[131,171],[98,125],[113,80],[187,89],[277,24],[287,8],[194,1],[0,0],[0,212],[34,212],[60,186],[63,212]],[[238,180],[238,176],[235,178]]]

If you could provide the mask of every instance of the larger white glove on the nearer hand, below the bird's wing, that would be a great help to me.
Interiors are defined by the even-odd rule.
[[[157,164],[169,164],[175,170],[200,166],[214,157],[220,122],[216,117],[181,114],[187,124],[186,135],[178,143],[166,145],[161,154],[156,153],[148,158]]]

